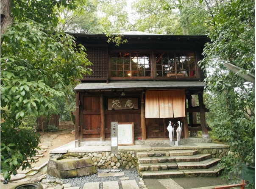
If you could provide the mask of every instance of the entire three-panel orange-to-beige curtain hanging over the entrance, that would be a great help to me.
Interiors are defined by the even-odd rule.
[[[145,117],[185,117],[185,91],[147,91]]]

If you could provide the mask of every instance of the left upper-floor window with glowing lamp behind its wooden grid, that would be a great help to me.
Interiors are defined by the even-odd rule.
[[[111,53],[111,77],[150,77],[150,53]]]

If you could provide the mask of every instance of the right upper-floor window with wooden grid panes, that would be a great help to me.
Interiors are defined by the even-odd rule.
[[[156,53],[157,77],[195,77],[194,53]]]

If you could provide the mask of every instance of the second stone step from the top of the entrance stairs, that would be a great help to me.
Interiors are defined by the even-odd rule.
[[[190,161],[203,161],[211,158],[211,154],[199,153],[194,156],[163,156],[163,157],[147,157],[138,158],[139,164],[156,164],[166,162],[190,162]]]

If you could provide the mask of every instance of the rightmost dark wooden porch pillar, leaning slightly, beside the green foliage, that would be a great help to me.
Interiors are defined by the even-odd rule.
[[[198,94],[199,110],[200,110],[200,124],[202,128],[203,139],[209,139],[208,129],[206,128],[205,111],[203,105],[203,92]]]

